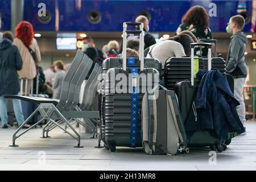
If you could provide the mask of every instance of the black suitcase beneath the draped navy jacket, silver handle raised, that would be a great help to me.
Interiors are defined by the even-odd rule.
[[[194,107],[194,100],[196,98],[197,89],[199,87],[200,81],[194,80],[194,47],[195,46],[207,46],[208,47],[208,70],[211,69],[211,44],[209,43],[192,43],[191,44],[191,81],[181,81],[175,85],[175,93],[179,99],[179,106],[181,116],[183,121],[187,119],[187,115],[189,110]],[[199,130],[196,131],[191,138],[189,138],[189,146],[191,147],[203,147],[209,146],[212,150],[217,150],[221,152],[226,149],[226,145],[224,144],[224,140],[218,138],[213,131],[208,130]],[[230,143],[230,141],[226,141]]]

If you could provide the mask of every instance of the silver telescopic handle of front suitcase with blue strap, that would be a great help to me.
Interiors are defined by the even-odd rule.
[[[139,30],[127,30],[127,26],[139,26]],[[123,70],[126,71],[126,44],[127,34],[139,34],[139,60],[141,60],[141,71],[144,69],[144,31],[143,23],[139,22],[124,22],[123,23]]]

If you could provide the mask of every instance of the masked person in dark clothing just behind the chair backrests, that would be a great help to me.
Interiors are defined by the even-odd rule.
[[[93,42],[93,38],[90,38],[89,36],[86,36],[85,38],[82,39],[82,43],[84,43],[84,47],[83,47],[84,51],[86,51],[87,48],[96,49],[97,63],[99,65],[102,65],[102,62],[104,61],[103,52],[95,46],[95,44]]]

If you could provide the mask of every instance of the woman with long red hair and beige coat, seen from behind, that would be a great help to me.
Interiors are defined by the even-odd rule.
[[[20,22],[15,31],[16,38],[13,44],[18,47],[23,61],[23,67],[18,71],[18,74],[19,78],[28,79],[27,93],[29,93],[33,78],[37,74],[37,67],[41,63],[40,49],[36,39],[34,39],[34,28],[30,22]],[[24,85],[23,91],[25,90]]]

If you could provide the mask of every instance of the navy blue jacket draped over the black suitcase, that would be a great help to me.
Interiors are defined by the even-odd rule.
[[[245,129],[238,117],[236,107],[239,102],[229,88],[226,76],[217,69],[202,71],[196,75],[200,78],[199,89],[195,100],[197,121],[193,109],[185,121],[185,128],[192,136],[197,130],[213,130],[221,139],[236,137]]]

